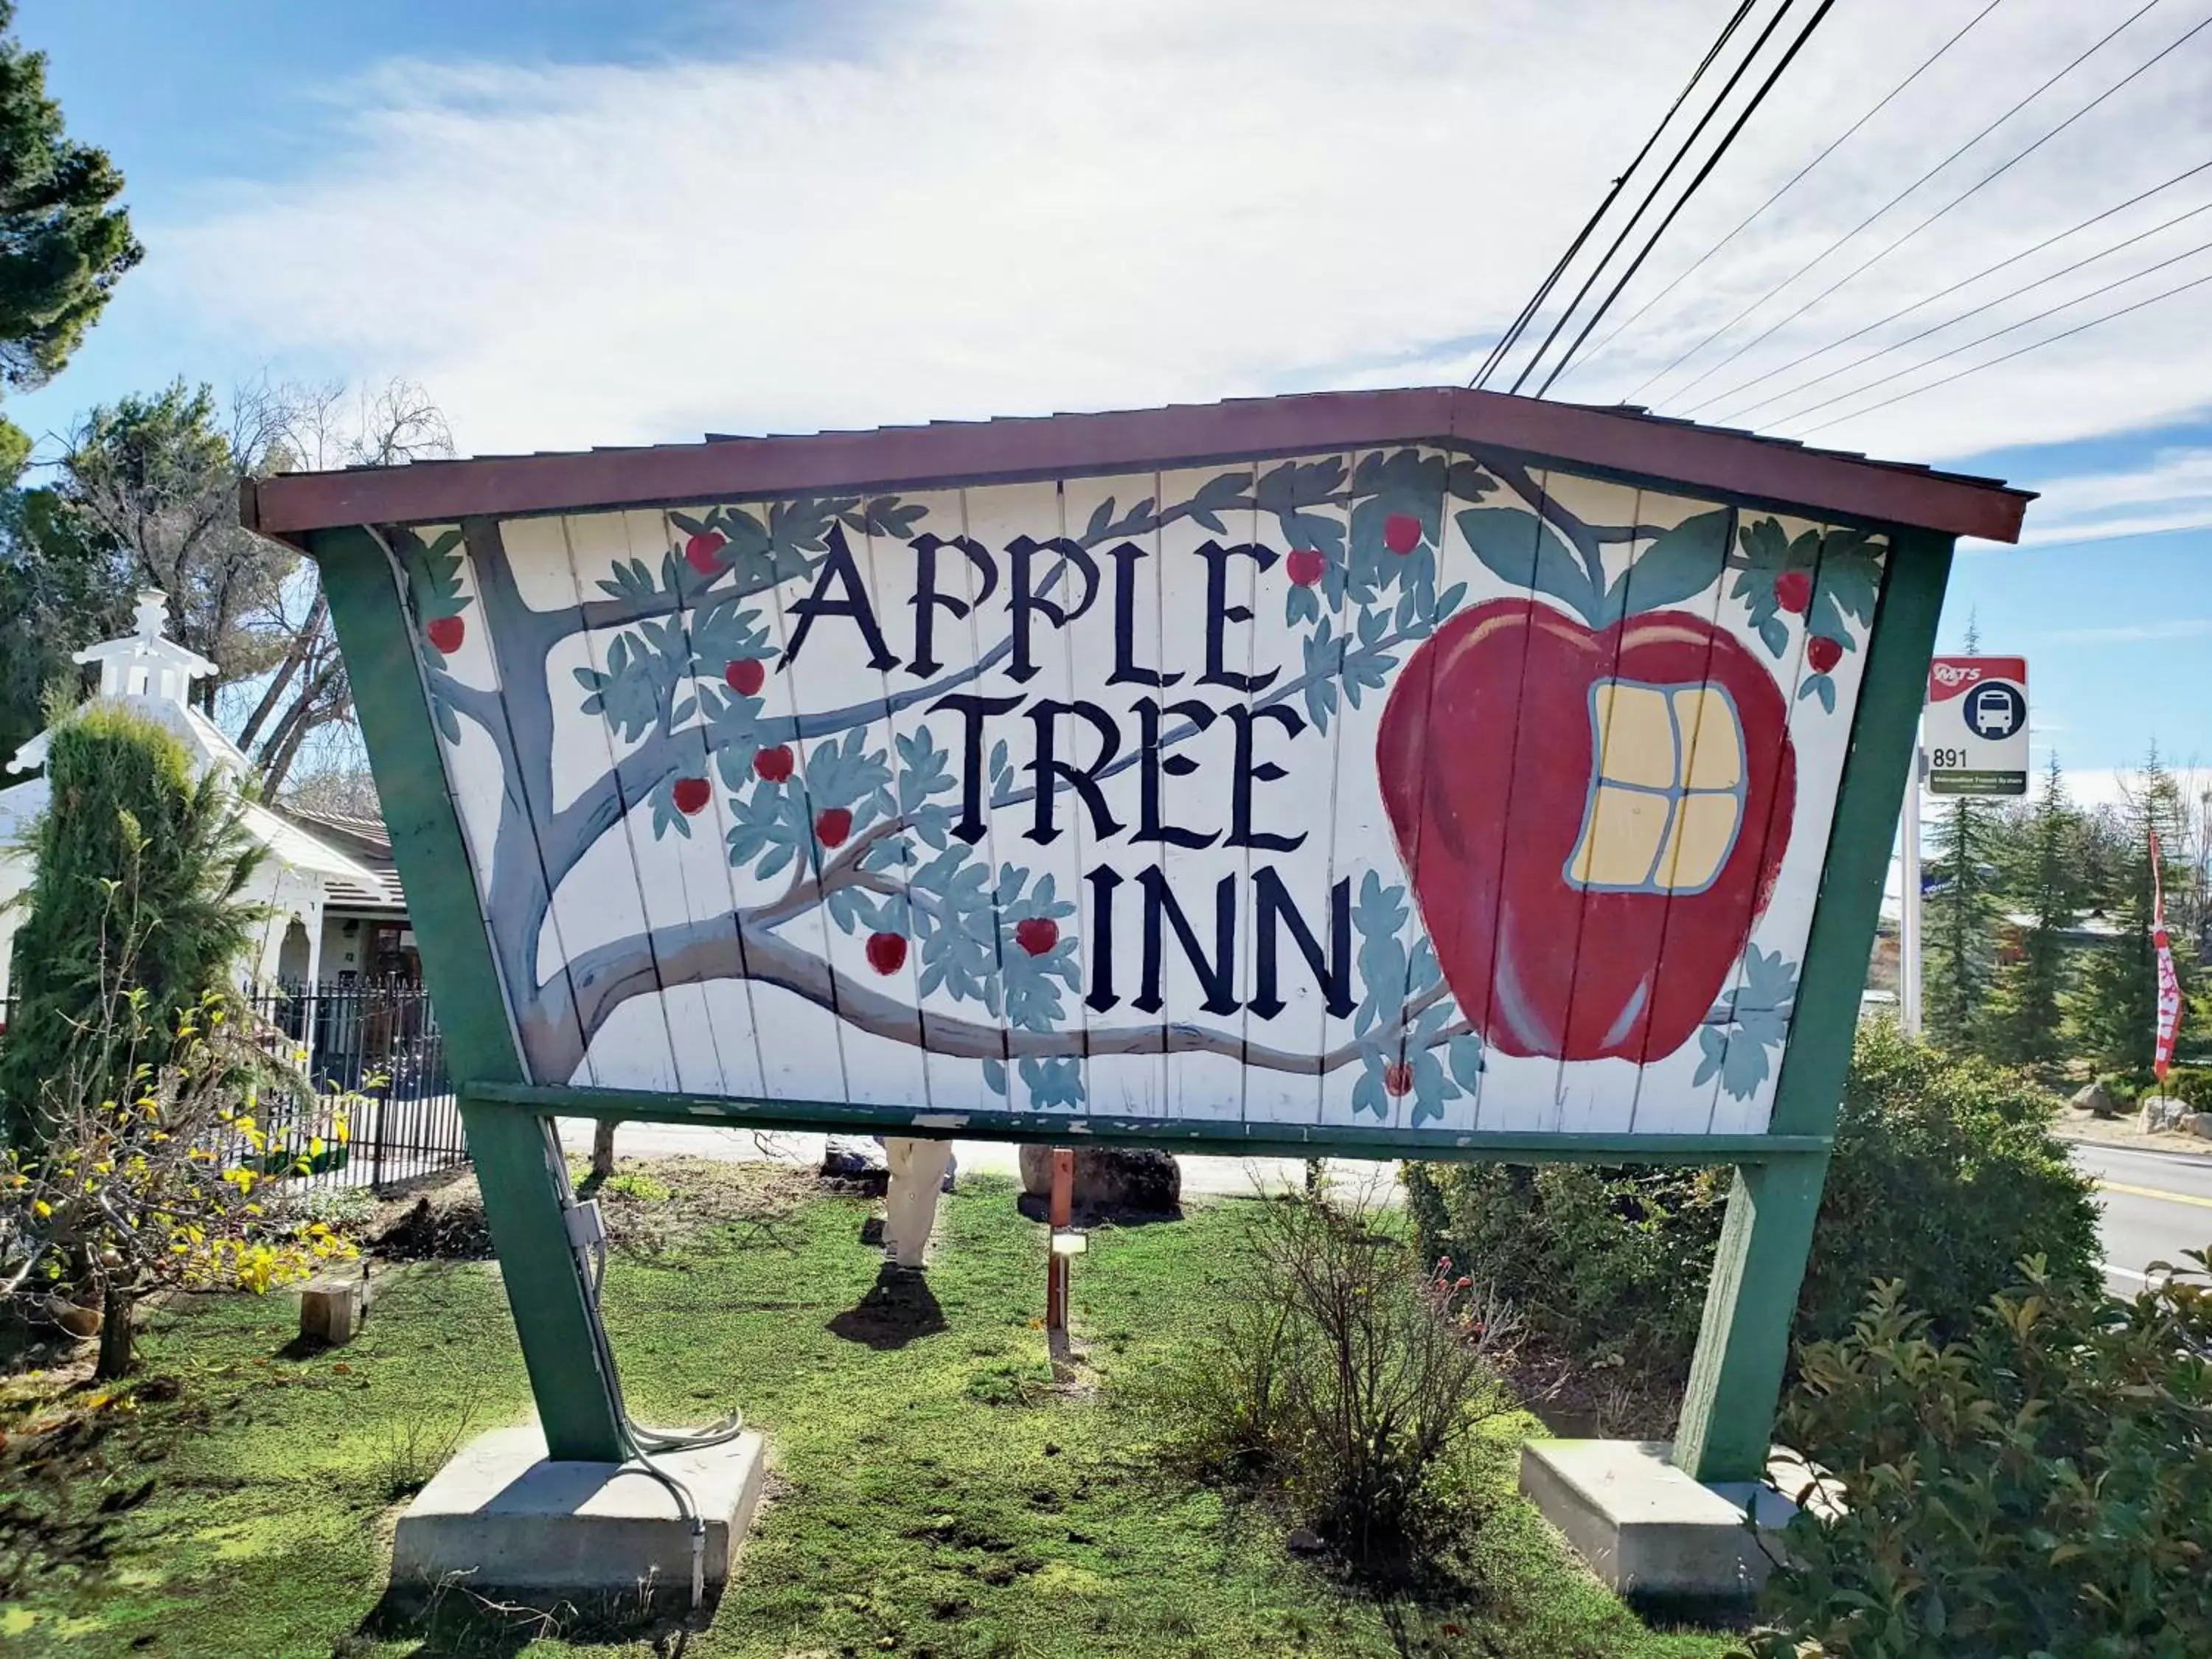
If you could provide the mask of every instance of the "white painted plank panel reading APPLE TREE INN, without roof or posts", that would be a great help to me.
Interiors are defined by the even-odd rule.
[[[394,531],[538,1082],[1756,1133],[1887,538],[1391,445]]]

